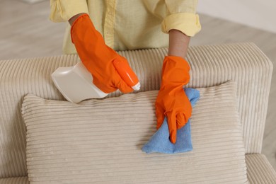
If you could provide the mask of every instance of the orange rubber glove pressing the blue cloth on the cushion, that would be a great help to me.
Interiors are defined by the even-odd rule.
[[[183,86],[190,80],[190,66],[182,57],[167,56],[163,61],[161,88],[156,98],[157,129],[165,116],[168,120],[170,140],[176,143],[177,130],[183,127],[192,115],[192,105]]]

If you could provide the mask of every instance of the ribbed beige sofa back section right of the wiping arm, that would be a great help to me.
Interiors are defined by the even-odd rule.
[[[272,63],[253,44],[194,47],[188,54],[192,74],[189,87],[238,82],[238,111],[246,153],[260,153],[272,77]]]

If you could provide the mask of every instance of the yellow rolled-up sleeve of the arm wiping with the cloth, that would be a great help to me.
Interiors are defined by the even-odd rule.
[[[197,0],[165,0],[166,18],[162,22],[163,33],[172,29],[180,30],[188,36],[200,32],[200,18],[195,13]]]

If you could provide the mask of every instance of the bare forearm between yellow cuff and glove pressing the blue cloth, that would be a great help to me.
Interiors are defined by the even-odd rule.
[[[170,30],[168,42],[168,56],[183,57],[187,54],[190,37],[179,30]]]

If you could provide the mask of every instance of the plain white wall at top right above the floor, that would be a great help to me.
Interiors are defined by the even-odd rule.
[[[276,33],[276,0],[199,0],[197,12]]]

